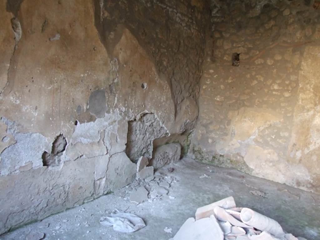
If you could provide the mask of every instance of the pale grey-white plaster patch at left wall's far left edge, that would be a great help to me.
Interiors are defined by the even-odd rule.
[[[15,122],[4,117],[1,120],[7,124],[7,133],[12,134],[16,143],[10,145],[1,153],[0,175],[17,172],[20,167],[32,163],[33,168],[42,167],[42,154],[50,151],[50,144],[40,133],[20,133]]]

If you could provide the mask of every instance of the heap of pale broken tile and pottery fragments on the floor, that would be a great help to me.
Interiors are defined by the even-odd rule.
[[[306,240],[284,232],[275,220],[250,208],[236,207],[233,197],[200,207],[171,240]]]

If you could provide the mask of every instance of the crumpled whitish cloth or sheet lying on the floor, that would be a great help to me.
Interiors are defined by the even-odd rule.
[[[123,233],[132,233],[146,226],[142,218],[127,212],[113,212],[107,217],[101,217],[100,224],[113,226],[113,230]]]

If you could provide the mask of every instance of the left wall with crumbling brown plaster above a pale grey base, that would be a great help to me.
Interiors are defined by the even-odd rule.
[[[204,2],[0,1],[0,234],[130,183],[129,121],[192,130]]]

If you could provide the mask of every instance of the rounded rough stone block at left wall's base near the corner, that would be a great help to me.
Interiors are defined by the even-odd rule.
[[[157,169],[166,164],[177,163],[180,160],[180,156],[181,145],[179,143],[165,144],[155,150],[151,164]]]

